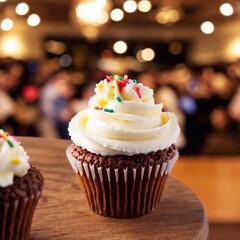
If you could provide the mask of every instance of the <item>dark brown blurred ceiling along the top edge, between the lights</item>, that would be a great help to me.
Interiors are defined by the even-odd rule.
[[[7,0],[0,3],[0,13],[4,12],[7,8],[15,7],[19,0]],[[70,22],[70,10],[74,1],[71,0],[28,0],[26,1],[31,9],[31,12],[37,13],[41,16],[42,22],[46,23],[66,23]],[[80,1],[79,1],[80,2]],[[203,21],[211,20],[214,22],[230,21],[236,19],[240,12],[239,1],[228,1],[237,9],[238,13],[230,17],[224,17],[219,13],[219,7],[223,3],[222,0],[151,0],[152,10],[148,13],[136,11],[134,13],[127,13],[123,21],[117,24],[138,25],[142,27],[148,24],[156,23],[155,16],[157,10],[161,7],[171,7],[178,9],[182,17],[177,25],[194,25],[200,24]],[[122,8],[124,0],[111,1],[112,8]],[[159,25],[159,24],[158,24]]]

